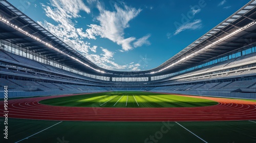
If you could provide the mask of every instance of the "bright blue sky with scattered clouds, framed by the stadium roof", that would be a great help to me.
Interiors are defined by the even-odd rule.
[[[152,69],[249,1],[9,0],[100,67]]]

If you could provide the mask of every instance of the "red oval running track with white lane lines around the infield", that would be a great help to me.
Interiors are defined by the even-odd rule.
[[[50,106],[38,103],[41,100],[63,96],[9,100],[8,117],[58,121],[126,122],[256,120],[256,102],[212,97],[187,96],[216,101],[218,105],[172,108],[101,108]],[[4,102],[1,101],[1,116],[4,114],[3,104]]]

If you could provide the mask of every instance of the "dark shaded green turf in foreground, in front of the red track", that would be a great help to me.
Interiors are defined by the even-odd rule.
[[[2,119],[0,118],[0,121]],[[0,125],[2,126],[2,122]],[[209,143],[252,143],[256,142],[255,133],[256,121],[59,122],[9,118],[8,140],[4,139],[1,128],[0,142],[152,143],[155,140],[155,142],[197,143],[205,140]]]

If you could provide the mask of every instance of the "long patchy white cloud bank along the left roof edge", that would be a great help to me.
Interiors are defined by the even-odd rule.
[[[79,11],[83,10],[86,11],[86,6],[81,3],[74,4],[73,2],[81,2],[78,0],[75,0],[73,2],[66,2],[61,0],[51,0],[51,3],[48,5],[42,4],[42,8],[46,11],[46,15],[56,22],[58,22],[57,25],[53,25],[52,23],[44,20],[44,21],[38,21],[39,25],[45,27],[49,32],[57,36],[60,40],[67,43],[69,46],[71,46],[74,50],[78,51],[80,54],[82,54],[87,59],[91,60],[96,65],[107,68],[107,69],[139,69],[139,66],[136,64],[132,64],[133,66],[129,68],[129,64],[119,65],[115,63],[114,60],[114,52],[109,51],[108,49],[104,49],[101,47],[102,54],[91,54],[90,52],[96,53],[97,52],[97,45],[91,45],[89,42],[85,41],[85,38],[94,39],[94,35],[89,33],[88,31],[84,31],[82,28],[77,28],[76,25],[72,22],[74,21],[73,18],[80,17],[82,18],[78,13]],[[68,6],[63,6],[64,4],[72,3],[72,5],[80,5],[80,6],[74,6],[76,10],[72,11],[73,8],[70,8],[70,10],[66,10]],[[71,5],[71,6],[72,6]],[[90,12],[89,9],[86,12]],[[124,18],[124,17],[123,17]],[[127,26],[127,25],[126,25]],[[96,39],[96,38],[95,38]],[[127,38],[129,39],[129,38]],[[125,39],[123,39],[125,40]],[[129,41],[129,40],[127,40]],[[126,43],[126,41],[123,41],[122,44]]]

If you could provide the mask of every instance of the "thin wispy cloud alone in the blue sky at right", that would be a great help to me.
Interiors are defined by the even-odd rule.
[[[187,22],[184,23],[182,26],[180,26],[174,33],[174,35],[179,34],[180,32],[184,31],[184,30],[196,30],[196,29],[200,29],[202,28],[202,20],[201,19],[196,19],[193,22]],[[168,36],[169,34],[167,34]],[[170,35],[169,35],[170,36]]]

